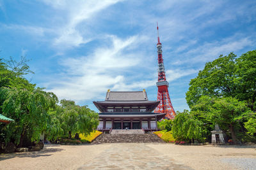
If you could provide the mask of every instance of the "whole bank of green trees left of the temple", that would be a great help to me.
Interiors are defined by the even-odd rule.
[[[15,122],[0,123],[0,140],[23,146],[24,141],[38,141],[45,132],[56,139],[68,134],[92,132],[99,124],[98,115],[74,101],[61,100],[52,92],[36,88],[24,75],[33,73],[24,57],[0,59],[0,113]],[[1,142],[0,141],[0,142]]]

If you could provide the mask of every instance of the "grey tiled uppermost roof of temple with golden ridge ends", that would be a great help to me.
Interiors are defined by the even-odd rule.
[[[108,90],[105,101],[148,101],[147,92],[111,92]]]

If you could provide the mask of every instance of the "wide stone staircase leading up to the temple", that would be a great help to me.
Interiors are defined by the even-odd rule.
[[[156,134],[101,134],[92,143],[165,143]]]

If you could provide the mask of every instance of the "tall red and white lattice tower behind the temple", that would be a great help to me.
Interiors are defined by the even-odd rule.
[[[176,116],[176,113],[173,109],[172,102],[170,99],[170,95],[168,92],[169,83],[166,81],[165,71],[164,71],[164,62],[162,55],[162,44],[160,43],[159,31],[158,31],[158,23],[157,23],[157,40],[158,43],[157,53],[158,53],[158,81],[156,86],[158,88],[157,92],[157,101],[160,101],[158,104],[155,113],[166,113],[165,117],[169,119],[173,119]]]

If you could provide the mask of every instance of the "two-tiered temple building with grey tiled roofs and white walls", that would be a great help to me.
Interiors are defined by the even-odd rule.
[[[98,131],[110,129],[143,129],[156,131],[157,120],[165,113],[153,113],[159,101],[148,101],[145,90],[138,92],[111,92],[108,90],[105,101],[94,101],[99,109]]]

